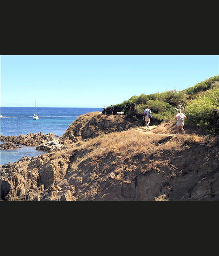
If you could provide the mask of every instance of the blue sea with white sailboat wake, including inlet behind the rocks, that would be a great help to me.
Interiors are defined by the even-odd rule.
[[[35,108],[26,107],[1,107],[0,134],[4,136],[27,135],[29,132],[52,132],[54,135],[62,136],[79,115],[94,111],[102,111],[103,108],[37,108],[38,120],[32,117]],[[1,141],[0,143],[5,143]],[[16,162],[23,156],[38,156],[45,151],[35,150],[35,147],[19,145],[16,150],[0,150],[0,164]]]

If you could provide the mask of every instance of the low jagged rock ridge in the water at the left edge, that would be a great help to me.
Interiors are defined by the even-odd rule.
[[[27,135],[19,135],[19,136],[4,136],[0,135],[1,141],[10,141],[19,145],[26,146],[39,146],[47,141],[54,141],[58,135],[54,135],[53,133],[47,133],[43,135],[43,132],[39,133],[28,133]]]

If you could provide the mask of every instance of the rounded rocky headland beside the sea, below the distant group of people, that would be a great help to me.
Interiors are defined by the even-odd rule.
[[[94,138],[110,132],[121,132],[139,126],[139,122],[130,121],[121,115],[102,115],[91,112],[80,115],[60,137],[60,143],[75,143],[80,139]]]

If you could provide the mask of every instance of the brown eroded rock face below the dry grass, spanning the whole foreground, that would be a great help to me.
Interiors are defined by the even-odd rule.
[[[188,146],[188,145],[187,145]],[[134,157],[71,148],[1,169],[2,200],[219,200],[219,139]]]

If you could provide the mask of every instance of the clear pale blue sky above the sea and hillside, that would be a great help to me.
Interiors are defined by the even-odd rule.
[[[97,107],[181,91],[219,74],[218,55],[1,55],[1,106]]]

